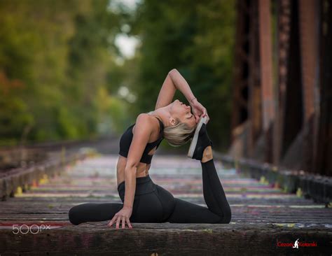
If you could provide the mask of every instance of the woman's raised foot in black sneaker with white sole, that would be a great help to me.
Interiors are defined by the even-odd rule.
[[[191,145],[189,146],[188,150],[188,157],[193,159],[202,160],[203,152],[205,148],[208,146],[213,146],[212,141],[210,140],[209,136],[207,135],[207,117],[200,118],[200,122],[195,130],[195,134],[191,141]]]

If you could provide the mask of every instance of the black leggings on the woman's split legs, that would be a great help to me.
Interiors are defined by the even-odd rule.
[[[174,198],[153,183],[150,176],[136,178],[136,191],[130,222],[229,223],[231,211],[214,166],[214,159],[202,163],[203,194],[207,207]],[[118,185],[121,201],[125,197],[125,181]],[[85,203],[69,210],[69,220],[83,222],[111,220],[123,208],[118,203]]]

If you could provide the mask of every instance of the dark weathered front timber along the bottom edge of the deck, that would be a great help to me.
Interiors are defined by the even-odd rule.
[[[287,228],[276,225],[133,224],[133,229],[112,229],[106,222],[60,227],[38,234],[15,235],[0,229],[0,253],[29,255],[109,253],[111,255],[268,255],[331,253],[331,229]],[[300,241],[317,247],[293,249],[277,243]],[[244,253],[245,252],[245,253]],[[27,254],[25,254],[27,253]]]

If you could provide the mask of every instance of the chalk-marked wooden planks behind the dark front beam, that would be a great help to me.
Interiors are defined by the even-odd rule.
[[[11,225],[71,225],[68,211],[85,202],[116,202],[117,155],[79,161],[61,176],[44,176],[29,190],[19,190],[15,197],[1,201],[0,229]],[[332,208],[310,199],[287,194],[277,187],[244,178],[235,169],[223,169],[215,160],[219,178],[232,208],[232,222],[272,223],[285,227],[324,226],[332,229]],[[202,194],[200,162],[186,157],[155,155],[149,171],[153,182],[178,197],[205,206]],[[310,227],[311,227],[310,226]],[[35,227],[35,226],[34,226]]]

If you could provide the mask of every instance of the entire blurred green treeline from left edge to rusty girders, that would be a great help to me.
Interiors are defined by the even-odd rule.
[[[145,0],[134,11],[113,1],[0,1],[0,143],[122,133],[154,109],[176,68],[208,110],[214,145],[226,148],[234,1]],[[141,39],[122,66],[120,32]]]

